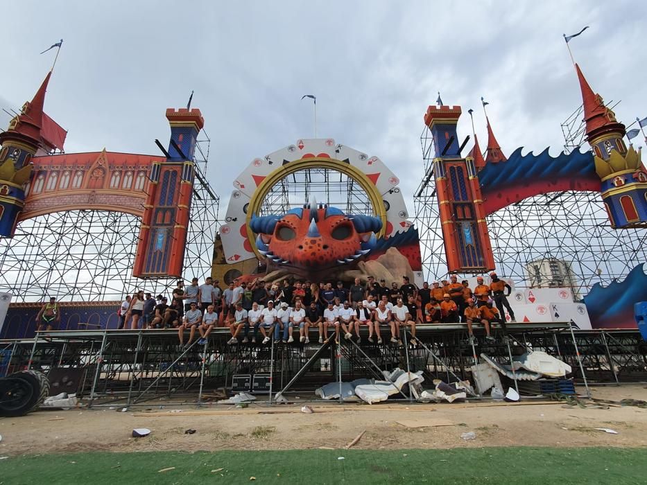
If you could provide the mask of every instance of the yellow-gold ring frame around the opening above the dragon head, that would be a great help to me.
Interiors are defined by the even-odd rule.
[[[384,204],[382,203],[382,195],[365,173],[345,161],[336,159],[320,157],[300,159],[291,161],[289,164],[285,164],[274,170],[270,175],[265,177],[263,182],[259,184],[256,191],[252,194],[252,199],[250,200],[247,210],[247,217],[245,219],[245,226],[247,229],[247,237],[250,240],[250,244],[252,245],[252,249],[257,258],[263,258],[263,256],[261,256],[256,247],[254,233],[252,232],[252,229],[250,229],[252,214],[257,214],[259,212],[263,200],[268,195],[270,189],[275,186],[279,180],[307,168],[329,168],[330,170],[335,170],[336,172],[340,172],[351,177],[361,186],[361,188],[364,189],[371,201],[373,211],[377,211],[375,215],[382,221],[382,229],[380,229],[377,237],[381,238],[386,233],[386,209],[384,209]]]

